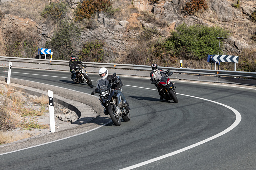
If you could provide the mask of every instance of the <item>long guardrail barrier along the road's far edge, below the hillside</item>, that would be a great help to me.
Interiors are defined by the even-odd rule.
[[[12,62],[13,67],[49,69],[49,70],[65,70],[69,71],[69,61],[48,60],[48,59],[32,59],[18,57],[0,56],[0,65],[7,66],[8,62]],[[87,65],[88,72],[97,73],[99,68],[106,67],[110,73],[117,72],[123,75],[146,76],[149,77],[151,66],[132,65],[132,64],[115,64],[115,63],[93,63],[83,62]],[[208,81],[219,83],[233,83],[243,85],[256,86],[256,72],[226,71],[226,70],[204,70],[204,69],[188,69],[174,67],[159,67],[161,69],[174,72],[172,78]],[[242,79],[241,79],[242,78]],[[244,79],[245,78],[245,79]]]

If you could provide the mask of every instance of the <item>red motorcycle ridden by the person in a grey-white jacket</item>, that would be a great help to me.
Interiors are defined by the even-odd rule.
[[[169,73],[169,70],[167,70],[167,76],[170,76],[172,74],[173,73]],[[176,87],[174,86],[174,83],[170,81],[169,77],[162,77],[161,80],[156,83],[156,86],[160,88],[160,93],[166,101],[173,100],[175,103],[178,103],[175,92]]]

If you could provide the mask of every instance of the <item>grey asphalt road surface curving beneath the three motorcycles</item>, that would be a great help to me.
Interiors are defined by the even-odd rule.
[[[96,85],[99,76],[88,75]],[[7,76],[2,68],[0,76]],[[68,72],[12,68],[11,77],[93,90],[74,84]],[[0,154],[0,169],[256,168],[255,88],[174,80],[179,102],[173,103],[160,101],[149,78],[120,77],[131,107],[129,122]],[[90,124],[109,120],[100,116]]]

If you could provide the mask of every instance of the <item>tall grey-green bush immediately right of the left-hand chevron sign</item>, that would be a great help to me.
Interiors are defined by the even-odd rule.
[[[51,41],[46,43],[46,48],[54,51],[54,59],[69,60],[75,54],[74,46],[80,35],[81,28],[77,23],[62,20]]]

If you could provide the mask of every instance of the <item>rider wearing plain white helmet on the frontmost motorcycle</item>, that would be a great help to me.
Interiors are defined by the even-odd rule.
[[[109,83],[111,83],[111,80],[113,79],[113,75],[109,75],[109,72],[108,72],[107,68],[105,68],[105,67],[100,68],[99,75],[100,75],[101,79],[106,79]],[[94,95],[95,93],[99,93],[100,92],[99,83],[97,83],[96,87],[97,88],[94,91],[92,91],[91,95]],[[124,106],[125,110],[127,112],[129,112],[131,109],[129,107],[128,102],[125,100],[125,97],[124,97],[123,93],[120,90],[116,90],[116,93],[120,94],[121,99],[123,101],[123,106]],[[104,109],[104,114],[108,115],[108,110]]]

